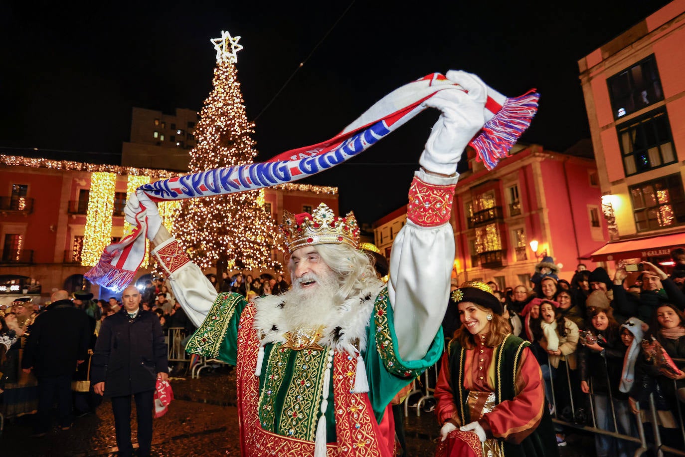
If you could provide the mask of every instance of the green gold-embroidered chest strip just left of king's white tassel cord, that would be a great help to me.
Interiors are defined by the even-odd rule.
[[[326,365],[327,351],[304,349],[295,352],[295,367],[279,418],[279,432],[314,441]]]

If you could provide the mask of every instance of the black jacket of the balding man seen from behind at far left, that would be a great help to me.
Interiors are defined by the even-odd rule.
[[[58,300],[38,314],[31,327],[22,368],[34,367],[38,378],[69,375],[76,361],[86,360],[90,319],[71,300]]]

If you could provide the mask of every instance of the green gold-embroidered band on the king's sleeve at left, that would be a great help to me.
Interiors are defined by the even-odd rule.
[[[223,343],[223,338],[226,336],[226,330],[233,317],[233,313],[242,299],[244,299],[242,295],[220,293],[216,300],[214,300],[212,309],[207,314],[205,321],[192,334],[188,345],[186,345],[186,352],[204,357],[218,356],[219,348],[221,343]]]

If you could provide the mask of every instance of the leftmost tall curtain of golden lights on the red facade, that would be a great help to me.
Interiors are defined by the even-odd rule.
[[[96,171],[90,175],[90,195],[81,254],[81,264],[84,267],[95,266],[102,250],[110,244],[115,186],[114,173]]]

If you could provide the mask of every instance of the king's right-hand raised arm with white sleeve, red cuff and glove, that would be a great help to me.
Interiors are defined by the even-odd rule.
[[[404,360],[422,358],[443,321],[455,252],[449,219],[457,163],[485,122],[485,84],[462,71],[448,72],[447,77],[468,92],[443,91],[426,101],[443,113],[421,153],[421,170],[409,190],[407,223],[390,256],[388,292]]]

